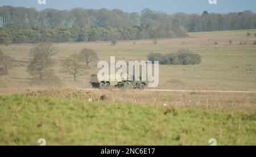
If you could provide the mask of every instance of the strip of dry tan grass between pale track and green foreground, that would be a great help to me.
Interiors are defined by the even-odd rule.
[[[144,90],[5,89],[7,93],[34,97],[219,110],[256,111],[256,93],[152,92]],[[0,90],[1,92],[1,90]]]

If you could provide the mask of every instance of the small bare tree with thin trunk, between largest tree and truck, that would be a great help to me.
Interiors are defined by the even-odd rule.
[[[68,59],[63,60],[62,62],[63,72],[69,73],[73,76],[74,81],[77,77],[82,75],[82,60],[80,55],[72,55]]]

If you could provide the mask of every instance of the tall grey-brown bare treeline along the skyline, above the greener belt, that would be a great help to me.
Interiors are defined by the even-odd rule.
[[[166,27],[184,26],[189,32],[253,29],[256,28],[256,14],[251,11],[228,14],[204,11],[201,15],[185,13],[169,15],[150,9],[144,9],[141,14],[138,14],[125,13],[118,9],[76,8],[72,10],[46,9],[37,11],[25,7],[0,7],[0,27],[131,28],[134,26],[159,28],[160,31]]]

